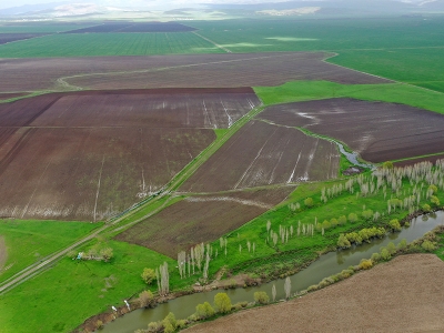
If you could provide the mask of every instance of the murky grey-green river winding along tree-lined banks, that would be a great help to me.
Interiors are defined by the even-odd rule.
[[[404,228],[398,233],[389,234],[385,239],[321,255],[319,260],[305,270],[291,276],[292,294],[319,283],[324,278],[340,273],[351,265],[359,264],[362,259],[370,259],[372,253],[379,252],[382,246],[387,245],[390,242],[397,244],[401,240],[405,239],[410,243],[440,224],[444,224],[444,212],[422,215],[412,220],[410,228]],[[228,290],[225,292],[233,304],[243,301],[252,302],[254,300],[253,293],[256,291],[264,291],[271,297],[273,284],[276,285],[276,300],[284,299],[284,280],[276,280],[260,286]],[[221,291],[223,290],[195,293],[159,304],[154,309],[135,310],[107,324],[101,332],[133,333],[138,329],[147,329],[150,322],[163,320],[169,312],[173,312],[176,319],[185,319],[195,312],[198,304],[203,302],[212,304],[214,295]]]

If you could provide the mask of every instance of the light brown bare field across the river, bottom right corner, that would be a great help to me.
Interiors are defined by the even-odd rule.
[[[185,332],[444,332],[444,263],[412,254],[301,299]]]

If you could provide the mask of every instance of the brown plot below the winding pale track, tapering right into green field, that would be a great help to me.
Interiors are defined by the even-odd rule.
[[[363,74],[324,62],[325,53],[251,54],[238,60],[229,56],[225,61],[196,65],[172,67],[112,75],[79,75],[65,82],[91,89],[124,89],[157,87],[252,87],[276,85],[290,80],[327,80],[339,83],[387,83],[389,80]],[[218,57],[219,58],[219,57]],[[234,59],[233,59],[234,58]]]

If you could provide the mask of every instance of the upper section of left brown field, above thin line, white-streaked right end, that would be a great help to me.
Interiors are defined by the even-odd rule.
[[[77,92],[57,101],[32,125],[221,129],[259,104],[251,88]]]

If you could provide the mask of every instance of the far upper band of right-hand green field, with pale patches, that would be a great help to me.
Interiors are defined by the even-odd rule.
[[[189,23],[233,52],[342,51],[444,46],[442,17],[226,20]]]

